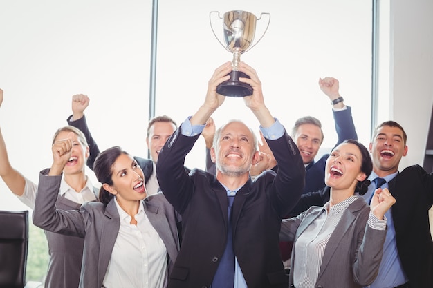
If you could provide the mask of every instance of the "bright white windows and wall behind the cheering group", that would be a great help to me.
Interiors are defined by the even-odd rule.
[[[12,166],[38,181],[52,162],[53,133],[66,125],[78,93],[91,99],[86,118],[101,150],[119,145],[147,156],[153,8],[152,1],[133,0],[0,3],[0,126]],[[160,0],[155,115],[181,124],[203,102],[214,69],[232,58],[213,35],[210,11],[230,10],[270,13],[263,38],[241,59],[257,70],[266,104],[288,130],[298,117],[313,115],[324,129],[322,152],[333,147],[331,105],[317,82],[335,77],[363,144],[371,126],[393,119],[409,137],[400,167],[423,164],[433,103],[432,1]],[[265,15],[257,21],[256,40],[266,23]],[[231,118],[258,132],[242,99],[228,97],[214,114],[217,126]],[[204,151],[199,139],[187,166],[204,168]],[[26,209],[2,181],[0,195],[0,209]]]

